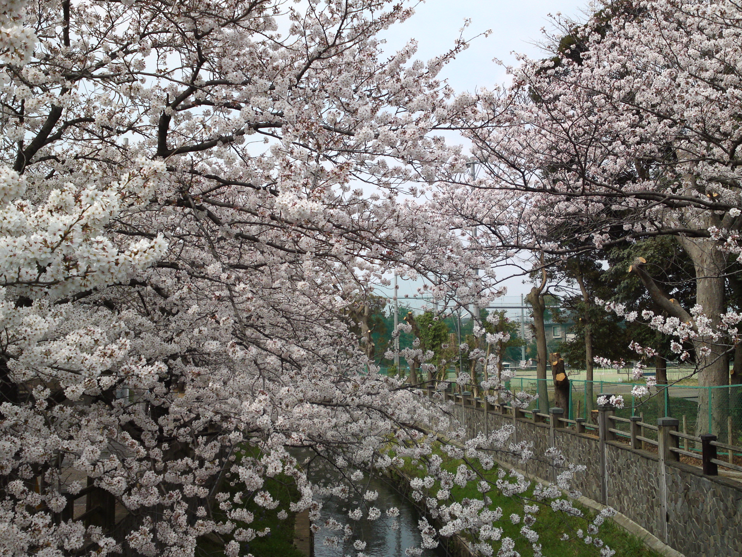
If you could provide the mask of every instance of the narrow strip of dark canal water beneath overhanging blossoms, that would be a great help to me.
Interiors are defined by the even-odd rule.
[[[348,517],[349,510],[357,509],[360,504],[360,497],[350,497],[347,501],[341,501],[335,497],[318,498],[322,501],[321,519],[318,524],[322,525],[329,518],[334,518],[341,524],[352,524],[353,535],[349,541],[343,542],[342,531],[329,531],[323,528],[315,535],[315,557],[342,557],[355,556],[358,549],[353,547],[353,541],[361,539],[367,542],[362,553],[369,557],[405,557],[408,547],[420,547],[420,531],[418,530],[418,520],[421,518],[415,507],[410,504],[406,498],[402,497],[392,485],[378,478],[366,477],[364,490],[378,492],[378,499],[373,502],[373,506],[381,509],[381,518],[376,521],[369,521],[362,518],[360,521],[352,521]],[[385,510],[390,507],[399,509],[399,516],[396,519],[389,518]],[[398,522],[398,528],[393,529],[393,521]],[[324,544],[328,536],[338,536],[341,538],[337,547],[328,547]],[[421,557],[445,557],[446,551],[442,547],[435,550],[423,550]]]

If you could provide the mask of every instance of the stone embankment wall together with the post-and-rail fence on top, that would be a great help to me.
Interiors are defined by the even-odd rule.
[[[591,423],[567,417],[562,408],[542,414],[490,405],[468,391],[463,395],[435,393],[434,388],[428,389],[430,396],[454,403],[453,412],[470,437],[512,423],[515,440],[533,443],[536,453],[556,446],[568,461],[584,464],[587,469],[575,481],[576,489],[613,506],[680,553],[688,557],[742,555],[742,482],[716,475],[720,466],[738,467],[713,457],[715,449],[729,450],[713,436],[683,434],[678,431],[680,420],[672,417],[661,417],[655,425],[600,408],[597,423]],[[699,458],[703,448],[701,455],[686,451],[686,441],[706,446],[706,458]],[[731,451],[742,452],[742,447],[731,446]],[[681,457],[697,465],[705,460],[717,469],[683,462]],[[537,460],[512,464],[533,477],[554,479],[551,470]]]

